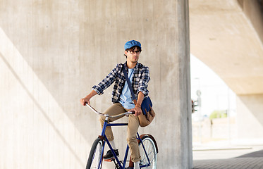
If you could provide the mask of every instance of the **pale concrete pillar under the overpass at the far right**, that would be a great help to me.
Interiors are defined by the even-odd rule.
[[[263,138],[263,94],[237,96],[237,123],[240,139]]]

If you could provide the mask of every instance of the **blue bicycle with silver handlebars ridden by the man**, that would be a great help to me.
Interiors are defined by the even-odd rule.
[[[114,149],[112,149],[111,144],[109,143],[109,140],[107,139],[105,135],[105,130],[107,126],[128,125],[128,123],[109,123],[108,121],[109,118],[116,118],[121,115],[129,115],[129,114],[133,114],[134,112],[126,112],[126,113],[121,113],[119,115],[106,115],[106,114],[96,111],[89,104],[86,104],[86,106],[90,107],[92,111],[94,111],[94,113],[105,116],[104,125],[102,127],[102,134],[99,135],[99,137],[95,139],[95,141],[92,144],[92,148],[90,150],[90,156],[87,159],[86,169],[102,168],[103,154],[104,154],[104,148],[106,144],[108,144],[109,149],[111,150],[111,153],[114,155],[114,158],[111,158],[106,161],[113,161],[115,164],[115,169],[125,169],[126,162],[130,162],[128,168],[132,169],[133,163],[131,161],[127,161],[129,146],[127,145],[126,154],[124,156],[124,159],[120,161],[118,157],[116,156]],[[152,135],[150,134],[140,135],[137,132],[137,142],[139,144],[139,149],[140,149],[140,154],[141,154],[140,168],[156,169],[157,168],[158,147],[157,147],[157,142],[155,141],[154,137],[152,137]]]

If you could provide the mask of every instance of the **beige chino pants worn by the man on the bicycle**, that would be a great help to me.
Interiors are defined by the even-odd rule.
[[[123,106],[120,103],[116,103],[116,104],[113,104],[111,107],[109,107],[104,112],[104,114],[118,115],[118,114],[121,114],[127,111],[129,110],[126,108],[123,108]],[[113,122],[115,120],[118,120],[119,118],[123,118],[123,116],[118,117],[118,118],[109,118],[109,122]],[[130,147],[131,160],[133,162],[137,162],[137,161],[140,161],[140,151],[139,151],[139,146],[138,146],[137,139],[136,139],[136,134],[137,134],[137,131],[140,125],[139,118],[138,116],[135,116],[135,115],[129,115],[128,118],[129,120],[128,120],[127,142],[128,142],[128,146]],[[101,118],[99,119],[102,127],[104,124],[104,120],[105,120],[104,116],[101,116]],[[111,130],[111,126],[106,127],[105,134],[109,141],[114,140],[114,134]]]

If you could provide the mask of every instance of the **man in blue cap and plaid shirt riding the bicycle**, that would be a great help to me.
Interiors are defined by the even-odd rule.
[[[126,56],[126,63],[118,64],[116,68],[111,70],[109,75],[107,75],[102,82],[98,85],[92,87],[92,92],[85,96],[85,98],[80,99],[80,103],[85,106],[85,103],[90,104],[90,99],[96,94],[103,94],[104,89],[108,88],[111,84],[114,84],[114,89],[112,91],[111,101],[113,105],[110,106],[104,113],[109,115],[118,115],[127,111],[135,111],[135,115],[129,115],[128,118],[128,137],[127,142],[130,147],[131,160],[134,162],[134,168],[139,167],[140,161],[140,151],[137,144],[136,133],[140,125],[138,115],[142,113],[140,108],[142,100],[148,96],[148,82],[149,78],[149,68],[141,63],[138,63],[140,53],[142,51],[140,42],[135,40],[128,41],[124,45],[124,52]],[[133,92],[137,98],[137,104],[133,103],[131,98],[130,89],[126,82],[126,78],[122,73],[122,70],[128,71],[128,78],[132,82]],[[119,117],[122,118],[123,116]],[[109,122],[117,120],[118,118],[109,118]],[[100,123],[103,126],[104,117],[100,118]],[[111,127],[106,127],[106,137],[109,139],[111,146],[113,147],[116,155],[118,156],[118,149],[116,149],[114,143],[114,135],[112,133]],[[113,154],[109,150],[104,158],[113,158]]]

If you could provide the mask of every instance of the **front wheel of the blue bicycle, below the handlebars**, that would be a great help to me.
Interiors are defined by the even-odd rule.
[[[99,168],[102,165],[102,139],[97,138],[92,144],[92,149],[90,150],[90,156],[87,159],[86,169]]]

